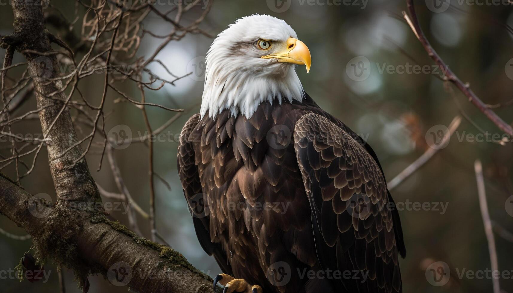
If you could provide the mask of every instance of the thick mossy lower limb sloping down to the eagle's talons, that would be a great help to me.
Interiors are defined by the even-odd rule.
[[[36,217],[34,210],[49,213]],[[73,269],[78,280],[102,274],[111,281],[109,269],[125,263],[132,272],[126,285],[139,292],[213,292],[211,278],[180,252],[139,237],[105,216],[81,218],[78,212],[51,207],[3,177],[0,212],[32,235],[38,263],[49,258]]]

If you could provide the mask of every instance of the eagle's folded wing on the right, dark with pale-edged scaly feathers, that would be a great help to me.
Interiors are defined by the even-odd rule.
[[[349,292],[402,292],[398,248],[381,169],[351,135],[325,117],[295,124],[294,148],[324,269],[351,272]],[[344,275],[343,275],[344,276]]]

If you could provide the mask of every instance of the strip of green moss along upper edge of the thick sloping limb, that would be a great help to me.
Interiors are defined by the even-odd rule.
[[[137,236],[135,232],[128,229],[125,225],[121,224],[118,221],[110,221],[107,219],[107,217],[103,215],[97,215],[91,218],[91,223],[105,223],[109,226],[111,226],[114,230],[124,233],[125,235],[132,238],[133,241],[135,241],[140,246],[147,246],[152,249],[155,249],[159,251],[159,257],[167,260],[166,262],[162,262],[159,264],[159,268],[164,268],[165,265],[171,265],[172,267],[183,267],[191,272],[193,272],[196,275],[199,275],[200,277],[212,281],[212,278],[210,278],[207,274],[200,271],[199,269],[196,269],[187,259],[182,255],[182,253],[172,249],[171,247],[168,247],[166,245],[162,245],[156,242],[153,242],[149,239],[146,239],[144,237]]]

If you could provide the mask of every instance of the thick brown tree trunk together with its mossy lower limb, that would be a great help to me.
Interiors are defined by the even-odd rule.
[[[127,285],[139,292],[213,292],[212,280],[173,249],[137,236],[100,210],[77,210],[69,203],[98,203],[100,194],[82,158],[73,128],[59,66],[50,46],[42,6],[34,0],[12,1],[14,33],[2,37],[2,47],[16,48],[28,61],[34,80],[40,120],[48,143],[50,170],[57,194],[52,206],[35,199],[0,174],[0,213],[33,237],[38,262],[46,258],[74,270],[79,282],[90,273],[109,281],[112,266],[130,271]],[[80,205],[77,205],[80,208]],[[85,205],[86,207],[89,205]],[[116,267],[120,272],[120,268]],[[119,285],[119,284],[118,284]]]

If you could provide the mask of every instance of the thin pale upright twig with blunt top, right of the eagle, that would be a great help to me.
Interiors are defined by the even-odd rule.
[[[474,170],[476,171],[476,181],[478,184],[479,207],[481,208],[484,232],[486,234],[486,240],[488,241],[488,250],[490,252],[491,271],[499,271],[494,231],[492,230],[490,214],[488,213],[488,204],[486,203],[486,190],[484,187],[483,167],[481,165],[481,161],[476,160],[476,162],[474,163]],[[499,278],[492,278],[491,280],[494,284],[494,293],[501,293]]]

